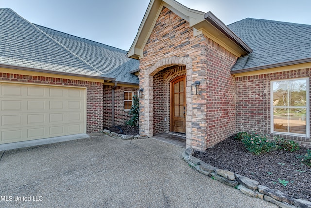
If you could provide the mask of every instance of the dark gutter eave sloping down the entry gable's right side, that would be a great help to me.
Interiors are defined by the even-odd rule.
[[[252,53],[253,50],[242,41],[236,34],[234,34],[220,19],[218,19],[212,12],[207,12],[204,15],[204,19],[206,19],[210,24],[212,24],[215,28],[221,31],[227,38],[237,44],[243,51],[247,54]]]

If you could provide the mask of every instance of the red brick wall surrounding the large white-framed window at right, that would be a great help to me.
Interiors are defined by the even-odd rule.
[[[256,132],[269,135],[271,138],[278,135],[270,133],[270,81],[310,76],[311,69],[307,68],[235,78],[236,132]],[[310,85],[309,92],[311,93]],[[280,136],[284,139],[297,141],[302,146],[311,147],[310,138],[292,135]]]

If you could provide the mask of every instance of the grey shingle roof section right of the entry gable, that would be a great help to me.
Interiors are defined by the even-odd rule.
[[[246,18],[228,27],[253,50],[232,71],[311,58],[311,25]]]

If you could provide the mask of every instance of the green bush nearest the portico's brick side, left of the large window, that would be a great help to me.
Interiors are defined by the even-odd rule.
[[[277,149],[277,145],[274,141],[269,141],[267,136],[259,135],[257,133],[243,134],[241,141],[246,149],[255,155]]]

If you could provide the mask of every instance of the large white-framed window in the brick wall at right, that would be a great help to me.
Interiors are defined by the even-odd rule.
[[[271,81],[271,133],[309,137],[309,78]]]

